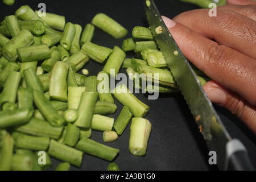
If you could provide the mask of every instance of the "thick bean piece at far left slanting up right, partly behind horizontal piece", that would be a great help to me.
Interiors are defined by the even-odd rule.
[[[18,48],[30,46],[34,43],[34,36],[28,30],[22,30],[3,46],[3,56],[9,61],[16,61],[18,58]]]

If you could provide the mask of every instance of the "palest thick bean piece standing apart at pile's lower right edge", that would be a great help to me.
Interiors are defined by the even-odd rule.
[[[131,119],[129,151],[133,155],[146,154],[148,138],[150,137],[151,123],[144,118]]]

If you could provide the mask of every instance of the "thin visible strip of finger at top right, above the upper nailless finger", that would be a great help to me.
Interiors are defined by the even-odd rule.
[[[225,5],[218,6],[218,10],[231,10],[247,18],[256,21],[256,6],[255,5]]]

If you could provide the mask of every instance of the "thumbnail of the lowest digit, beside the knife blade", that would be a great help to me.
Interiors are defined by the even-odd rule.
[[[214,102],[215,104],[225,104],[226,93],[222,89],[211,87],[208,90],[206,90],[206,93],[210,101]]]

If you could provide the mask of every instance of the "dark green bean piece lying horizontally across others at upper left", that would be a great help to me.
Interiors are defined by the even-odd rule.
[[[38,46],[27,46],[17,49],[19,60],[22,62],[41,61],[51,57],[48,46],[42,44]]]

